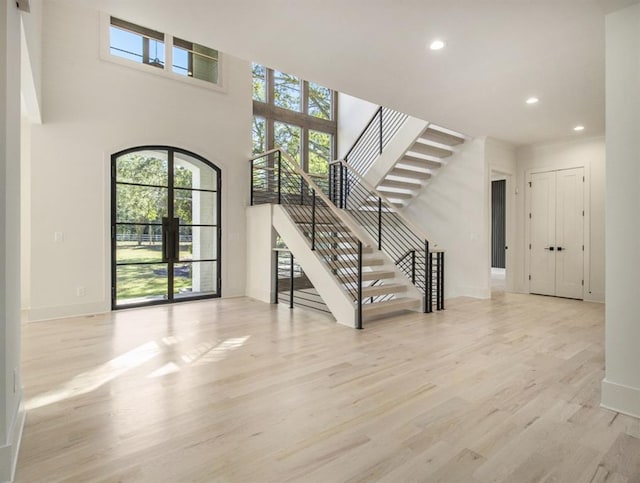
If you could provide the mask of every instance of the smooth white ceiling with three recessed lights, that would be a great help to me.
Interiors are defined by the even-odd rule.
[[[69,0],[74,1],[74,0]],[[604,14],[632,0],[75,0],[471,136],[604,133]],[[440,52],[426,45],[439,37]],[[529,96],[539,104],[527,106]],[[585,130],[572,128],[583,124]]]

